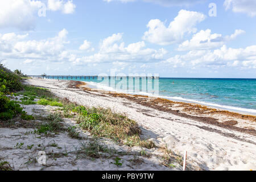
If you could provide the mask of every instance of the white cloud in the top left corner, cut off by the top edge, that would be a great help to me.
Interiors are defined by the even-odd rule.
[[[60,10],[64,14],[72,14],[76,5],[72,1],[60,0],[48,0],[47,5],[39,0],[0,0],[0,28],[33,30],[43,7],[48,7],[46,10],[50,11]]]

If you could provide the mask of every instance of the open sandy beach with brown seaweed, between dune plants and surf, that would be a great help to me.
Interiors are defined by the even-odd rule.
[[[176,154],[188,151],[188,162],[203,170],[256,169],[256,117],[163,98],[130,95],[88,87],[85,82],[30,79],[79,105],[109,108],[136,121],[141,138]]]

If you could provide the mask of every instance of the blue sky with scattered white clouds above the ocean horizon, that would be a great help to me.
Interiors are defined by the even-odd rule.
[[[256,78],[254,0],[0,0],[0,60],[27,75]]]

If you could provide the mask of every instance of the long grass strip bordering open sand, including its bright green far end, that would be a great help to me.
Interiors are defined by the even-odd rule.
[[[45,92],[49,92],[46,90]],[[102,107],[85,107],[77,105],[68,100],[41,99],[40,105],[51,105],[61,107],[61,117],[74,118],[81,129],[89,131],[94,137],[104,137],[113,139],[115,142],[127,146],[141,146],[145,148],[155,147],[154,142],[142,140],[139,135],[141,130],[137,122],[127,118],[123,114],[114,113],[111,109]],[[79,138],[75,130],[69,129],[72,138]]]

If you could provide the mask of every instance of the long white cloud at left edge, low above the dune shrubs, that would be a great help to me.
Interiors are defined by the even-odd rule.
[[[0,34],[0,56],[6,59],[47,59],[57,57],[65,50],[64,44],[69,43],[68,31],[61,30],[54,38],[46,40],[24,40],[28,34]],[[26,61],[28,63],[28,61]]]

